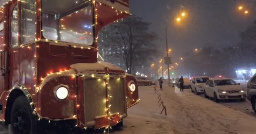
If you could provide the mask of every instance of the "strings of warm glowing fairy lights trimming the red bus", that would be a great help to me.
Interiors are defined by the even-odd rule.
[[[11,2],[12,0],[10,0],[10,1],[8,1],[8,2],[6,2],[6,3],[4,3],[3,5],[5,5],[5,4],[8,4],[9,2]],[[22,3],[27,3],[26,1],[24,1],[24,0],[17,0],[18,1],[18,3],[20,3],[20,2],[22,2]],[[37,0],[38,2],[40,2],[40,0]],[[94,7],[95,7],[95,23],[93,24],[93,25],[91,25],[92,27],[94,27],[95,29],[96,29],[96,31],[97,31],[97,25],[98,25],[98,14],[97,14],[97,6],[96,6],[96,3],[98,4],[98,5],[100,5],[100,6],[107,6],[107,7],[110,7],[109,5],[106,5],[106,4],[104,4],[104,3],[100,3],[100,2],[96,2],[95,0],[88,0],[88,1],[91,1],[92,3],[93,3],[93,5],[94,5]],[[121,11],[121,10],[118,10],[118,9],[116,9],[115,7],[111,7],[112,8],[112,10],[115,10],[115,12],[116,12],[116,15],[119,15],[119,14],[122,14],[122,13],[126,13],[126,14],[129,14],[129,15],[131,15],[130,13],[128,13],[127,11]],[[2,8],[0,8],[0,13],[4,13],[4,7],[2,6]],[[37,10],[36,10],[36,12],[35,12],[35,14],[37,14],[37,13],[39,13],[39,14],[41,14],[41,8],[37,8]],[[121,20],[123,21],[123,18],[121,18]],[[37,21],[40,21],[40,20],[37,20]],[[4,23],[5,23],[6,21],[4,21]],[[118,20],[117,21],[114,21],[114,22],[118,22]],[[35,22],[35,27],[37,27],[37,22]],[[67,31],[69,31],[69,32],[73,32],[72,30],[67,30]],[[41,32],[43,32],[43,30],[41,30]],[[42,33],[41,33],[42,34]],[[84,33],[75,33],[75,34],[92,34],[92,33],[89,33],[89,32],[84,32]],[[18,34],[18,36],[20,36],[19,34]],[[35,36],[37,36],[37,33],[35,33]],[[95,41],[96,41],[96,43],[97,43],[97,40],[98,40],[98,37],[97,37],[97,35],[95,36]],[[41,41],[41,38],[35,38],[35,40],[34,40],[34,43],[38,43],[39,41]],[[53,41],[53,40],[50,40],[50,39],[42,39],[42,41],[46,41],[46,42],[51,42],[51,43],[56,43],[56,44],[59,44],[59,41]],[[31,42],[30,42],[31,43]],[[5,44],[4,44],[4,46],[6,46]],[[29,50],[31,50],[31,46],[27,46],[27,44],[21,44],[21,46],[20,46],[21,48],[23,48],[23,47],[27,47],[27,49],[29,49]],[[80,47],[81,49],[91,49],[91,46],[90,47],[85,47],[85,46],[80,46],[80,45],[73,45],[72,47],[75,47],[75,48],[77,48],[77,47]],[[39,49],[39,45],[37,44],[37,46],[36,46],[36,48],[37,49]],[[97,49],[97,48],[96,48]],[[37,60],[37,54],[35,53],[34,54],[34,57],[35,57],[35,60]],[[35,63],[35,65],[34,65],[34,67],[32,67],[32,69],[34,69],[34,73],[33,73],[33,75],[34,75],[34,80],[35,81],[37,81],[37,74],[36,74],[36,67],[37,67],[37,64]],[[107,132],[107,130],[109,130],[109,128],[110,129],[112,129],[111,128],[111,126],[110,126],[110,124],[112,123],[112,119],[115,119],[116,118],[116,116],[118,115],[119,117],[120,117],[120,119],[119,119],[119,121],[121,121],[121,119],[122,119],[122,115],[120,115],[120,113],[117,113],[117,114],[115,114],[115,116],[112,116],[112,114],[111,114],[111,110],[110,110],[110,108],[111,108],[111,104],[110,104],[110,100],[112,99],[112,95],[111,95],[111,92],[110,92],[110,87],[109,87],[109,78],[110,77],[114,77],[114,76],[110,76],[109,74],[98,74],[98,73],[92,73],[92,74],[83,74],[83,75],[78,75],[77,73],[74,73],[72,70],[66,70],[66,69],[64,69],[64,70],[60,70],[59,72],[48,72],[46,75],[45,75],[45,77],[41,77],[40,78],[40,80],[41,80],[41,83],[40,83],[40,85],[37,85],[37,83],[34,85],[34,88],[35,88],[35,92],[36,93],[40,93],[40,91],[42,90],[42,85],[43,85],[43,83],[45,82],[45,81],[47,81],[48,80],[48,78],[51,78],[51,76],[56,76],[56,75],[63,75],[64,73],[66,73],[66,75],[68,75],[68,76],[70,76],[70,77],[72,77],[72,78],[75,78],[75,77],[91,77],[91,78],[96,78],[96,79],[104,79],[105,81],[106,81],[106,87],[107,87],[107,98],[105,99],[105,101],[106,101],[106,103],[107,103],[107,108],[106,108],[106,112],[107,112],[107,117],[108,117],[108,125],[105,127],[105,130],[104,130],[104,133],[106,133]],[[117,78],[124,78],[125,77],[125,75],[118,75],[118,77]],[[118,79],[117,79],[118,80]],[[22,85],[19,85],[19,86],[16,86],[16,87],[13,87],[11,90],[8,90],[8,92],[9,92],[9,94],[11,93],[11,91],[12,90],[14,90],[14,89],[16,89],[16,88],[19,88],[19,89],[21,89],[21,90],[24,90],[24,91],[26,91],[26,93],[27,93],[27,98],[29,98],[29,100],[31,100],[31,102],[30,102],[30,105],[32,106],[32,108],[34,109],[34,111],[33,111],[33,114],[35,114],[35,115],[37,115],[38,116],[38,121],[40,121],[41,119],[47,119],[48,120],[48,122],[50,123],[51,121],[56,121],[56,120],[58,120],[58,119],[49,119],[49,118],[47,118],[47,117],[42,117],[42,116],[40,116],[40,114],[38,113],[38,111],[40,111],[40,108],[37,108],[36,107],[36,105],[35,105],[35,101],[33,101],[33,99],[32,99],[32,95],[30,95],[30,93],[28,92],[29,90],[31,90],[32,88],[30,87],[30,88],[26,88],[26,87],[24,87],[24,86],[22,86]],[[5,91],[5,92],[7,92],[7,91]],[[3,94],[2,94],[3,95]],[[6,100],[8,100],[8,97],[9,97],[9,95],[6,97]],[[76,100],[76,105],[75,106],[77,106],[77,108],[79,108],[79,106],[80,106],[80,104],[78,104],[77,103],[77,95],[75,95],[74,96],[75,97],[75,100]],[[134,100],[133,100],[134,101]],[[139,100],[137,100],[137,101],[139,101]],[[79,125],[83,125],[83,126],[85,126],[84,127],[84,129],[87,129],[88,127],[86,126],[86,124],[83,124],[81,121],[79,121],[78,119],[77,119],[77,114],[76,115],[73,115],[73,116],[71,116],[71,117],[69,117],[69,118],[67,118],[67,119],[76,119],[77,120],[77,124],[75,125],[76,127],[77,126],[79,126]],[[0,121],[5,121],[4,119],[0,119]],[[117,121],[116,123],[118,123],[119,121]]]

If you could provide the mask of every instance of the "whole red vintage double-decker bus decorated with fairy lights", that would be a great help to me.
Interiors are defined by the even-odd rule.
[[[99,62],[97,33],[128,17],[128,0],[0,0],[0,121],[36,134],[40,121],[104,128],[139,102],[132,75]]]

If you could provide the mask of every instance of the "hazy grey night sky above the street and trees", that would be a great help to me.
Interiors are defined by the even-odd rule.
[[[239,11],[242,5],[249,14]],[[170,15],[168,43],[171,56],[178,59],[187,51],[208,46],[224,47],[240,43],[240,32],[256,21],[256,0],[130,0],[131,13],[152,23],[156,44],[165,52],[165,27]],[[175,15],[185,11],[180,23]],[[164,56],[164,55],[163,55]]]

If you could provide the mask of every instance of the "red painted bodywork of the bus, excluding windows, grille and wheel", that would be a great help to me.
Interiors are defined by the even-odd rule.
[[[94,18],[94,43],[92,46],[84,48],[74,47],[72,43],[65,42],[56,43],[48,41],[42,35],[41,26],[41,1],[36,2],[36,34],[35,41],[27,44],[21,44],[19,39],[19,47],[11,48],[9,43],[10,15],[13,7],[18,3],[19,13],[21,14],[21,1],[12,0],[4,5],[4,13],[0,13],[0,22],[4,23],[4,36],[0,35],[0,50],[7,52],[7,60],[5,61],[2,54],[1,68],[7,64],[8,71],[4,76],[0,76],[0,121],[5,124],[10,123],[11,103],[15,99],[13,93],[21,91],[27,96],[31,104],[32,112],[47,120],[77,120],[77,126],[87,127],[85,122],[85,106],[84,106],[84,79],[78,75],[79,72],[70,66],[77,63],[99,64],[97,59],[97,32],[108,23],[128,17],[129,8],[128,0],[115,0],[115,3],[109,3],[109,0],[96,0],[93,3],[95,14],[98,18]],[[117,6],[117,8],[112,7]],[[125,10],[123,10],[125,9]],[[1,8],[0,10],[3,10]],[[20,37],[20,18],[19,18],[19,37]],[[1,29],[0,29],[1,30]],[[0,31],[1,32],[1,31]],[[101,70],[90,70],[96,74],[104,73],[104,76],[118,75],[124,77],[124,98],[125,118],[127,116],[126,108],[139,102],[138,85],[136,79],[132,75],[125,75],[124,70],[115,69],[114,65],[106,64]],[[0,75],[4,70],[0,70]],[[128,84],[133,82],[136,90],[131,92]],[[55,88],[64,85],[69,88],[69,95],[65,100],[56,99]],[[107,81],[106,81],[107,85]],[[106,88],[107,92],[107,88]],[[107,96],[108,97],[108,96]],[[107,103],[108,104],[108,103]],[[106,105],[106,108],[108,105]],[[89,126],[94,128],[108,127],[117,124],[121,120],[119,113],[109,114],[108,116],[95,119],[95,125]],[[110,118],[110,121],[109,119]],[[122,119],[123,119],[122,118]]]

